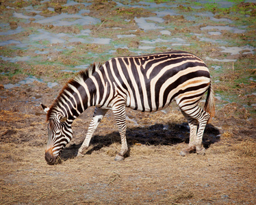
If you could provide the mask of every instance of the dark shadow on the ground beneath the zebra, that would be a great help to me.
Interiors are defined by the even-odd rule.
[[[190,128],[188,123],[182,124],[154,124],[152,126],[138,126],[127,128],[127,143],[129,148],[135,144],[146,146],[173,146],[177,143],[189,143]],[[220,140],[220,131],[212,124],[207,124],[203,135],[203,146],[207,149],[211,144]],[[73,143],[68,145],[61,153],[60,157],[66,161],[77,156],[77,152],[83,143]],[[107,135],[94,135],[90,141],[90,147],[84,154],[92,154],[94,151],[110,147],[114,143],[120,143],[118,131]],[[130,149],[129,149],[130,150]],[[129,150],[125,157],[129,157]],[[119,150],[116,150],[117,154]]]

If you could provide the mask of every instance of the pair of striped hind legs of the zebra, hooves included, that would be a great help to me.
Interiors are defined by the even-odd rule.
[[[197,154],[205,154],[205,148],[203,147],[203,132],[209,119],[209,113],[196,106],[194,109],[182,111],[185,118],[188,120],[190,126],[190,143],[188,148],[181,151],[181,156],[185,156],[196,149]],[[197,128],[199,124],[199,128]]]

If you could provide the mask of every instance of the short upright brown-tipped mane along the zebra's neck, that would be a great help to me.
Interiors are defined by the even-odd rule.
[[[90,64],[90,66],[88,66],[88,68],[86,68],[85,70],[79,71],[73,79],[69,80],[66,83],[66,85],[64,85],[60,94],[57,96],[57,98],[55,98],[53,104],[51,105],[49,111],[47,112],[47,121],[49,121],[49,119],[51,118],[51,115],[53,115],[53,113],[54,113],[53,111],[56,110],[56,107],[58,107],[58,104],[59,104],[59,102],[61,101],[61,98],[62,98],[62,94],[64,94],[64,92],[66,90],[71,91],[71,88],[70,88],[71,85],[77,87],[80,84],[79,82],[86,81],[100,67],[101,67],[101,63],[99,63],[99,62],[95,63],[94,62],[93,64]]]

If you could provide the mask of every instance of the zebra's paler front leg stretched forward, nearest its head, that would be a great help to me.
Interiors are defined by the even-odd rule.
[[[97,126],[99,125],[99,122],[101,122],[101,119],[104,117],[105,113],[107,113],[107,109],[101,109],[98,107],[94,109],[92,121],[90,122],[90,126],[86,134],[86,139],[84,139],[84,142],[79,148],[77,156],[84,156],[84,150],[86,150],[89,147],[90,139],[92,139],[92,135],[96,130]]]

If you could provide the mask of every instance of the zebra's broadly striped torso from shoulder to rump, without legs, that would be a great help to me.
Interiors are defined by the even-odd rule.
[[[120,94],[127,97],[127,107],[139,111],[163,109],[174,99],[177,103],[184,100],[182,96],[190,95],[191,100],[192,92],[198,90],[201,98],[210,82],[203,60],[184,51],[115,57],[101,70],[107,73],[112,87],[118,87]]]

